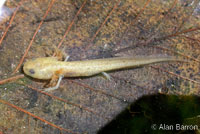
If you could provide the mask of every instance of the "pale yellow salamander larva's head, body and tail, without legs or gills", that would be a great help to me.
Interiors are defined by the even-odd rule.
[[[27,61],[25,74],[37,79],[51,79],[53,76],[81,77],[92,76],[101,72],[133,68],[157,62],[177,61],[173,57],[120,57],[85,61],[58,61],[55,57],[37,58]]]

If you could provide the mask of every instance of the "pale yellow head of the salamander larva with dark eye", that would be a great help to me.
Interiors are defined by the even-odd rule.
[[[23,71],[26,75],[36,79],[51,79],[53,61],[56,61],[56,58],[46,57],[29,60],[24,64]]]

